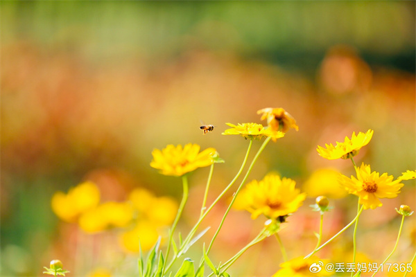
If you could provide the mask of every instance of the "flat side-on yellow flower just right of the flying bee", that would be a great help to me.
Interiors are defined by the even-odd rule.
[[[283,132],[274,131],[272,129],[265,129],[263,125],[257,123],[239,123],[234,125],[231,123],[225,123],[230,129],[226,129],[223,134],[239,134],[245,139],[262,139],[263,136],[271,136],[273,141],[284,136]]]

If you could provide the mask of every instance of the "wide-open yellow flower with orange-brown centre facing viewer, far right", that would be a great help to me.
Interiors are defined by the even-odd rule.
[[[365,209],[381,207],[383,204],[379,198],[395,198],[403,186],[400,179],[393,181],[393,177],[387,173],[380,176],[379,172],[371,172],[370,166],[364,163],[356,168],[356,175],[357,177],[352,176],[351,179],[341,175],[340,183],[348,193],[359,197],[359,203]]]

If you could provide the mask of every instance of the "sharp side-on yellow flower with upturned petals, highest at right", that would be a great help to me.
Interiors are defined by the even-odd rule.
[[[325,143],[325,148],[318,145],[316,150],[318,151],[318,154],[325,159],[349,159],[358,154],[358,150],[371,141],[373,133],[374,131],[372,129],[369,129],[366,133],[359,132],[358,135],[353,132],[352,138],[349,139],[345,136],[345,141],[343,143],[337,141],[336,146],[333,146],[332,143],[329,145]]]

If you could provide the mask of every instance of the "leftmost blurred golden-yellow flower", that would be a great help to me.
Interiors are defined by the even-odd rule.
[[[86,181],[75,188],[70,188],[68,194],[60,191],[51,200],[52,211],[66,222],[75,222],[80,214],[90,210],[100,202],[100,190],[96,184]]]

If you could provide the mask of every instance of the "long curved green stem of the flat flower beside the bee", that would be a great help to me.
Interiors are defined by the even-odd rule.
[[[243,163],[241,164],[241,168],[240,168],[239,172],[237,172],[237,174],[234,177],[234,179],[232,179],[232,181],[223,190],[223,192],[220,193],[220,195],[218,195],[218,197],[214,200],[214,202],[211,204],[211,206],[209,206],[209,208],[207,208],[207,211],[205,211],[205,213],[203,213],[200,216],[198,222],[196,222],[196,224],[192,227],[191,231],[189,231],[189,234],[187,235],[187,238],[185,238],[184,241],[182,242],[182,245],[180,246],[180,248],[178,250],[178,255],[177,256],[180,256],[180,254],[187,247],[187,245],[189,244],[189,242],[191,242],[191,240],[193,238],[193,235],[195,235],[196,230],[200,226],[202,220],[204,220],[205,217],[207,217],[207,215],[211,211],[211,209],[214,208],[214,206],[218,203],[218,201],[220,201],[220,199],[225,195],[225,193],[227,193],[227,191],[229,190],[229,188],[231,188],[232,185],[234,185],[234,183],[236,182],[236,180],[240,177],[241,172],[243,172],[243,169],[245,167],[245,163],[247,163],[248,155],[250,154],[251,148],[252,148],[252,141],[250,141],[250,143],[248,145],[248,149],[247,149],[247,152],[245,153],[245,157],[244,157]],[[171,262],[169,262],[169,265],[168,265],[166,271],[172,267],[173,263],[177,259],[177,256],[174,256],[173,259],[171,260]]]

